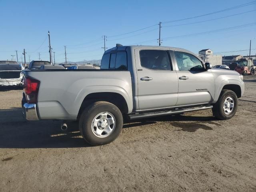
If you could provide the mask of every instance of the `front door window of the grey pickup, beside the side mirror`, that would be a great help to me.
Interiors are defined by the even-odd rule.
[[[203,68],[202,62],[192,54],[178,51],[175,51],[174,54],[180,71]]]

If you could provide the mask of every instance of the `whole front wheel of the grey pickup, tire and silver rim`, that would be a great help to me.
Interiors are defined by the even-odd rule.
[[[220,120],[232,118],[237,111],[237,96],[231,90],[222,90],[218,101],[212,108],[213,115]]]

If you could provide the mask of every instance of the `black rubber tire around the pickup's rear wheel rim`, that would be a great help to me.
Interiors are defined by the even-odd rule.
[[[113,124],[114,129],[112,130],[110,135],[105,137],[103,137],[104,135],[102,135],[101,137],[101,136],[97,136],[95,134],[95,131],[93,131],[94,128],[99,129],[98,126],[93,127],[92,124],[96,116],[105,112],[111,114],[114,117],[114,124]],[[114,104],[109,102],[100,101],[100,102],[94,102],[90,104],[87,108],[84,109],[84,111],[82,112],[79,118],[79,130],[81,135],[83,136],[84,140],[86,140],[86,142],[94,146],[104,145],[114,141],[122,131],[122,127],[123,127],[122,113]]]

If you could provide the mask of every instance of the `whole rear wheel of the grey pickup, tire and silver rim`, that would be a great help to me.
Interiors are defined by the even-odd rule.
[[[84,109],[79,119],[79,130],[91,145],[104,145],[114,141],[123,127],[120,110],[109,102],[94,102]]]

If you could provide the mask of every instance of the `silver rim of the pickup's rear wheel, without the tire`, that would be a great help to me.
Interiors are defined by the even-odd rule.
[[[97,137],[108,137],[115,128],[116,119],[110,112],[102,112],[92,120],[92,132]]]

